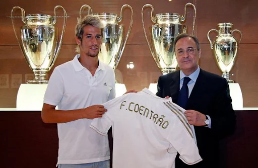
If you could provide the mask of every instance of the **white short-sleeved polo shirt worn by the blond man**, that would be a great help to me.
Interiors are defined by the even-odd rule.
[[[83,67],[76,55],[72,61],[55,67],[50,76],[44,103],[59,110],[82,109],[103,104],[115,98],[114,70],[99,61],[94,74]],[[89,125],[92,120],[80,119],[58,123],[58,161],[60,163],[90,163],[110,158],[108,138],[99,135]]]

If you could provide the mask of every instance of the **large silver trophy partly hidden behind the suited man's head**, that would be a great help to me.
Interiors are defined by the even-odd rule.
[[[187,33],[187,27],[182,25],[186,19],[187,6],[193,7],[192,34],[194,33],[196,21],[196,7],[187,3],[184,6],[184,16],[176,13],[162,13],[153,15],[153,7],[146,4],[142,8],[142,23],[145,38],[150,48],[151,54],[163,74],[175,71],[177,61],[174,54],[173,42],[180,33]],[[147,36],[144,24],[144,9],[151,8],[151,21],[155,24],[150,27],[150,40]]]

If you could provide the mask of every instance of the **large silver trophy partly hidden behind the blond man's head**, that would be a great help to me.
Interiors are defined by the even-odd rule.
[[[123,18],[122,13],[124,8],[130,8],[131,10],[131,21],[125,39],[123,39],[124,28],[122,25],[119,25]],[[88,15],[98,16],[104,24],[103,42],[99,53],[99,59],[115,69],[118,66],[125,43],[132,29],[133,9],[130,5],[125,4],[121,8],[120,16],[112,13],[92,14],[91,7],[83,5],[80,9],[80,18],[83,17],[82,15],[85,9],[88,9]]]

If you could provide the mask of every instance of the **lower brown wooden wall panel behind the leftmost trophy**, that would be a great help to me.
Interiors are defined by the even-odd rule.
[[[54,67],[73,59],[75,47],[76,45],[62,45]],[[49,75],[51,75],[53,68]],[[0,108],[16,107],[19,86],[14,85],[14,82],[18,77],[19,81],[26,83],[26,75],[31,76],[33,72],[27,65],[20,47],[0,46]]]

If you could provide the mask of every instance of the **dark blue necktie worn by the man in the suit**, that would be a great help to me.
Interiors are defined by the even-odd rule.
[[[186,108],[186,104],[187,104],[187,100],[188,100],[188,93],[189,93],[187,83],[190,80],[191,79],[189,77],[183,78],[183,86],[179,92],[179,96],[178,96],[178,100],[177,100],[177,105],[184,109]]]

